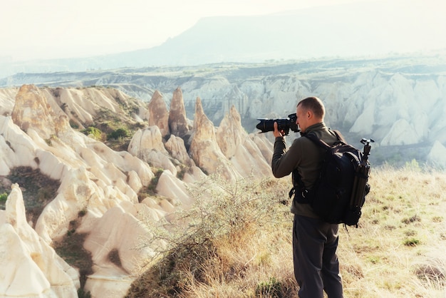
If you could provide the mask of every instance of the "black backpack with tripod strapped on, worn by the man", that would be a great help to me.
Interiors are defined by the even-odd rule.
[[[332,131],[338,138],[333,146],[327,145],[312,133],[303,135],[326,151],[321,174],[313,188],[306,190],[302,187],[299,175],[298,185],[293,188],[298,196],[297,201],[311,204],[323,221],[358,227],[365,195],[370,191],[368,155],[370,143],[374,141],[362,139],[364,149],[361,153],[361,150],[348,145],[336,130]]]

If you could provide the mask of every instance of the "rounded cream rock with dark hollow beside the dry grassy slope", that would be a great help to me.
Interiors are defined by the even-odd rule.
[[[95,220],[95,229],[84,242],[94,263],[85,291],[100,293],[100,297],[124,297],[134,277],[142,273],[142,264],[154,255],[148,247],[138,248],[144,237],[150,239],[150,232],[137,218],[144,211],[151,213],[147,205],[123,203]]]

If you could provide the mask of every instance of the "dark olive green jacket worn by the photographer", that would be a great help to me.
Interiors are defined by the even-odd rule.
[[[328,130],[325,123],[316,123],[309,126],[305,133],[314,133],[328,145],[333,145],[338,138]],[[301,133],[301,135],[304,135]],[[323,148],[318,147],[312,140],[308,138],[296,138],[293,144],[286,150],[286,142],[284,137],[277,137],[274,141],[274,153],[271,161],[271,169],[274,177],[281,178],[290,173],[293,178],[297,174],[300,175],[302,183],[307,190],[311,190],[314,183],[318,179],[323,163]],[[296,185],[293,181],[293,185]],[[308,204],[301,204],[293,200],[291,204],[291,212],[296,215],[304,215],[307,217],[318,217]]]

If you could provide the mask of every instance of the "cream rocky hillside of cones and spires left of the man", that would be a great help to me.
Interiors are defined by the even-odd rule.
[[[142,220],[189,207],[209,174],[271,175],[272,144],[236,108],[216,128],[196,98],[190,120],[180,88],[167,106],[158,91],[147,104],[24,85],[1,89],[0,107],[0,296],[123,297],[154,255],[136,249]]]

